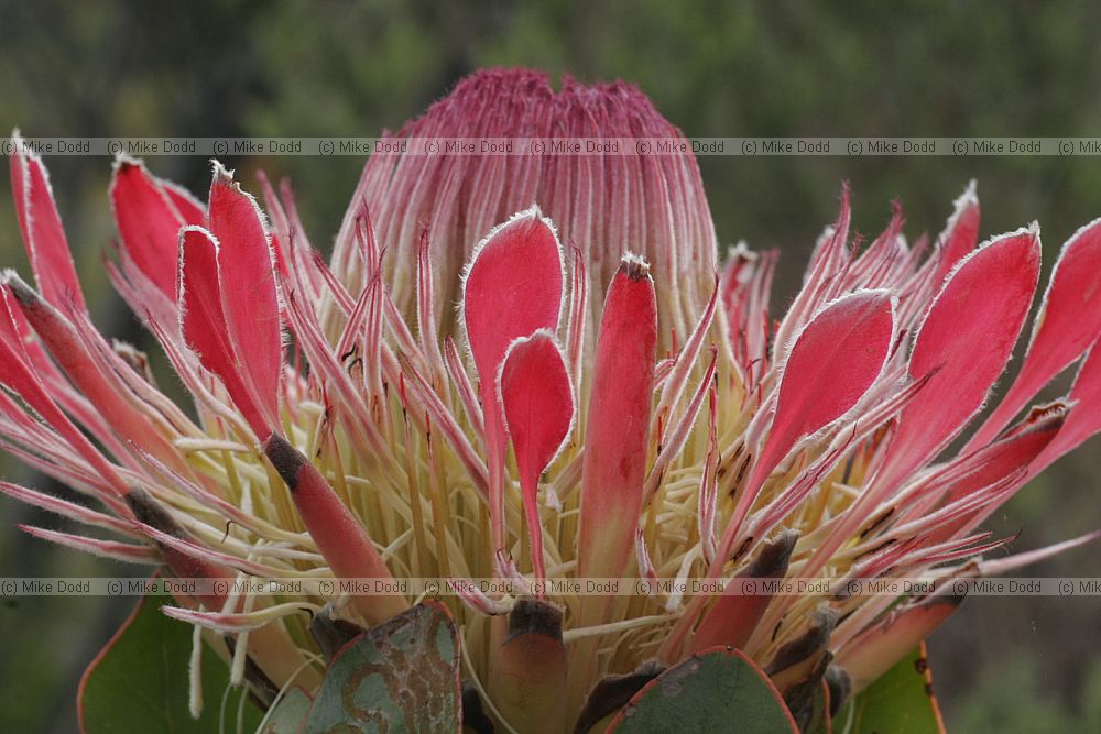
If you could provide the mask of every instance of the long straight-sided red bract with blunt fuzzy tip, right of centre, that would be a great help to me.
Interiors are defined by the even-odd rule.
[[[634,547],[650,443],[657,305],[650,269],[626,258],[608,286],[581,464],[580,573],[617,577]]]

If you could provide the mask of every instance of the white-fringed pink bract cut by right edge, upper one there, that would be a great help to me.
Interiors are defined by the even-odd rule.
[[[1101,219],[1062,247],[1013,385],[969,448],[989,443],[1029,399],[1101,337]]]

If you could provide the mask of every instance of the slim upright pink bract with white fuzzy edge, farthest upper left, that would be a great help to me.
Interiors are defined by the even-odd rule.
[[[20,138],[15,136],[12,143],[11,189],[23,243],[39,288],[55,306],[72,303],[84,310],[84,292],[50,188],[50,175],[42,165],[42,158],[26,150]]]

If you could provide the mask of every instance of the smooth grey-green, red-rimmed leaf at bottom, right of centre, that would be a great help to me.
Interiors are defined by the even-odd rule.
[[[768,677],[741,650],[716,648],[673,666],[612,722],[615,734],[793,734],[795,721]]]

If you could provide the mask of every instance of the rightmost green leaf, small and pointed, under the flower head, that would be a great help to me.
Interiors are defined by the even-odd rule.
[[[940,709],[928,689],[928,666],[922,643],[839,712],[837,728],[852,734],[942,734]]]

